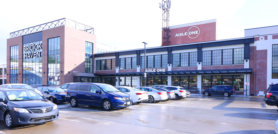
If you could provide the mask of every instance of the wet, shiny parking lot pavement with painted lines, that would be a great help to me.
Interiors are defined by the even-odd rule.
[[[73,108],[58,104],[59,119],[8,129],[0,121],[0,133],[274,133],[278,108],[262,97],[202,96],[182,100],[134,103],[125,109]]]

